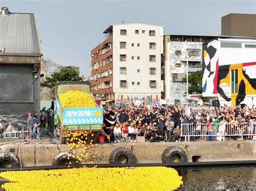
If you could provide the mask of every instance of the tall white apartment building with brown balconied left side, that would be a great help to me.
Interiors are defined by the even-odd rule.
[[[91,89],[97,100],[160,102],[164,27],[111,25],[91,51]]]

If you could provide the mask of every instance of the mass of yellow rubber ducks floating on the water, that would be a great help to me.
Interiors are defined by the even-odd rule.
[[[0,177],[11,181],[2,185],[4,190],[175,190],[183,184],[178,172],[167,167],[9,171]]]

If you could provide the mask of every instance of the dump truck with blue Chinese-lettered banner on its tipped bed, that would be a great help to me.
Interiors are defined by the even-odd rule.
[[[103,124],[103,108],[98,107],[96,102],[95,107],[63,108],[58,95],[69,90],[91,94],[90,84],[87,82],[67,81],[56,83],[55,125],[62,144],[67,142],[68,132],[89,131],[93,133],[102,130]]]

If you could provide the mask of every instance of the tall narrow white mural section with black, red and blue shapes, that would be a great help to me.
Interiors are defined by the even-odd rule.
[[[217,96],[218,77],[218,41],[213,40],[203,45],[203,96]]]

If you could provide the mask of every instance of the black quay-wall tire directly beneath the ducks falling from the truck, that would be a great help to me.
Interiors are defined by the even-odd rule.
[[[68,166],[68,165],[80,165],[81,162],[72,157],[72,153],[60,152],[52,161],[52,166]],[[69,164],[71,162],[71,164]]]

